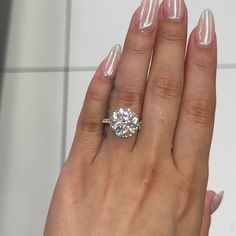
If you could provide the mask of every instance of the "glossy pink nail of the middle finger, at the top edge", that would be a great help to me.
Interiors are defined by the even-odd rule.
[[[184,0],[164,0],[164,16],[173,21],[184,17]]]

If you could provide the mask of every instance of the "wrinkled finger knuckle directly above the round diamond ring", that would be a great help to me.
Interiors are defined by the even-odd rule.
[[[140,106],[143,102],[143,93],[138,86],[123,85],[117,88],[113,99],[121,106]]]

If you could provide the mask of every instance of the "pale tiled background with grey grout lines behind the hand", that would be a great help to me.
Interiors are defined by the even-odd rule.
[[[139,0],[0,1],[0,236],[40,236],[96,65],[123,43]],[[236,235],[236,2],[186,0],[189,31],[211,8],[218,107],[209,189],[225,191],[210,236]]]

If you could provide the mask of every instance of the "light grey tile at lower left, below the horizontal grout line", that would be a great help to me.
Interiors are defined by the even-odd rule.
[[[59,170],[63,77],[6,74],[0,113],[0,235],[42,235]]]

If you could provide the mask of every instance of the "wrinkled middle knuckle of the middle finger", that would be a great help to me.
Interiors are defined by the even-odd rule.
[[[162,99],[175,99],[181,96],[181,79],[174,73],[161,72],[150,84],[152,96]]]

